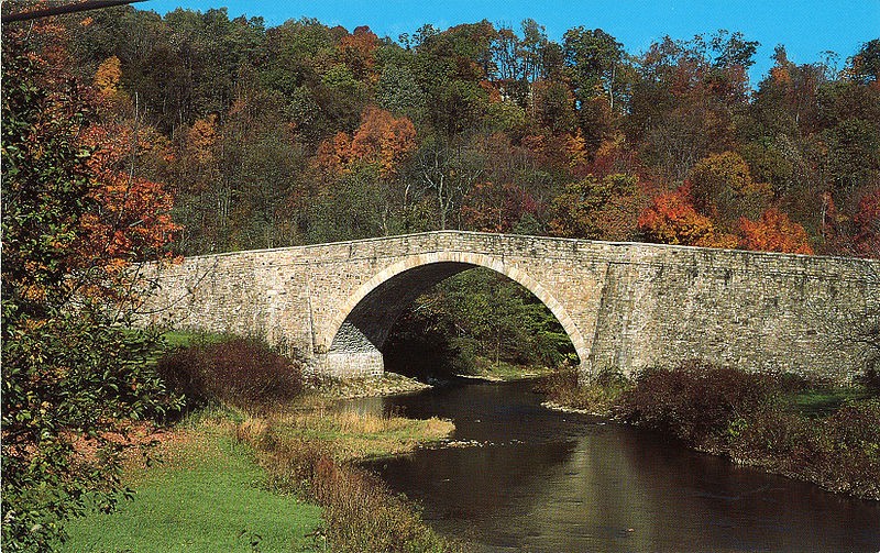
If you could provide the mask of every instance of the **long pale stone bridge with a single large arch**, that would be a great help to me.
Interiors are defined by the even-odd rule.
[[[473,267],[534,292],[562,323],[582,376],[701,358],[846,378],[877,362],[838,339],[877,312],[880,262],[460,231],[152,265],[140,317],[257,334],[323,374],[376,375],[404,308]]]

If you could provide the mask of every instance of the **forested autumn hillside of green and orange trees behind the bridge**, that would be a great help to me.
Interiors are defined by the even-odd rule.
[[[757,43],[726,31],[630,52],[534,20],[64,21],[182,254],[466,229],[880,255],[880,40],[804,65],[780,45],[750,82]]]

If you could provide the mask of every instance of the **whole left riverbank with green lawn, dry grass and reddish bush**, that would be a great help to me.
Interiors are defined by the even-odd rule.
[[[393,374],[306,381],[295,362],[242,339],[174,349],[158,373],[184,395],[188,414],[143,438],[156,439],[152,458],[160,463],[131,460],[123,483],[133,500],[72,521],[64,551],[460,549],[356,466],[442,440],[454,425],[334,405],[426,385]]]

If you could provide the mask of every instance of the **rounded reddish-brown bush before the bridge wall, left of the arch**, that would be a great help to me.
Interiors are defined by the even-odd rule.
[[[260,411],[302,390],[293,361],[263,342],[241,338],[174,350],[160,360],[158,374],[169,389],[184,394],[190,409],[217,400]]]

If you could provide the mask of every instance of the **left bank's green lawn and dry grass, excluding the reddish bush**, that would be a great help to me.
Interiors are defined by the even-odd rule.
[[[162,432],[158,463],[131,461],[131,501],[69,523],[63,551],[380,551],[403,542],[454,551],[355,466],[453,429],[436,418],[338,412],[316,395],[258,417],[201,409]]]

